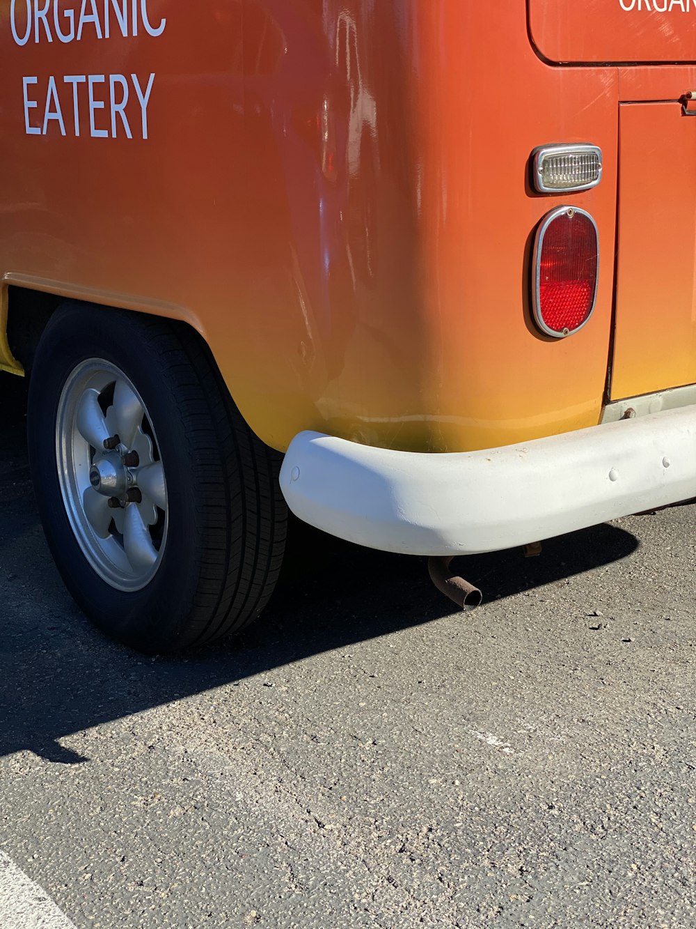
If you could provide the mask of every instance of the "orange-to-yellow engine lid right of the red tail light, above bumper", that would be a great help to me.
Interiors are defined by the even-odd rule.
[[[620,108],[612,399],[696,382],[696,121]]]

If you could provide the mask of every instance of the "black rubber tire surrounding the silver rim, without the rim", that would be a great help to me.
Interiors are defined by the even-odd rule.
[[[60,398],[64,388],[70,390],[71,374],[93,359],[116,366],[135,387],[164,467],[167,530],[157,543],[159,567],[142,589],[119,589],[97,573],[89,540],[85,545],[73,529],[58,476]],[[147,428],[148,420],[141,425]],[[259,615],[285,544],[279,456],[243,421],[210,350],[193,330],[123,310],[59,307],[36,352],[28,436],[46,539],[71,595],[99,628],[158,653],[238,633]],[[157,511],[160,517],[163,512]],[[121,538],[114,526],[113,538]]]

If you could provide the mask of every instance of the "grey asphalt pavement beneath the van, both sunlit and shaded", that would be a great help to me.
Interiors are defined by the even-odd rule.
[[[471,557],[467,615],[294,524],[249,633],[145,658],[62,586],[10,381],[0,929],[696,925],[696,507]]]

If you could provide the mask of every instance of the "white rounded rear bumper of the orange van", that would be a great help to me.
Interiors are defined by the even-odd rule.
[[[349,542],[492,552],[696,497],[696,406],[455,454],[301,432],[280,486],[296,516]]]

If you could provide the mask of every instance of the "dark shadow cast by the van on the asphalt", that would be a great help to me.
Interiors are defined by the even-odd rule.
[[[432,587],[424,559],[360,548],[294,521],[276,593],[249,632],[157,661],[115,645],[74,606],[48,555],[29,482],[22,401],[20,386],[0,393],[0,756],[28,749],[83,763],[60,737],[456,611]],[[459,569],[491,601],[637,547],[633,535],[603,525],[545,543],[541,557],[518,550],[470,556]]]

